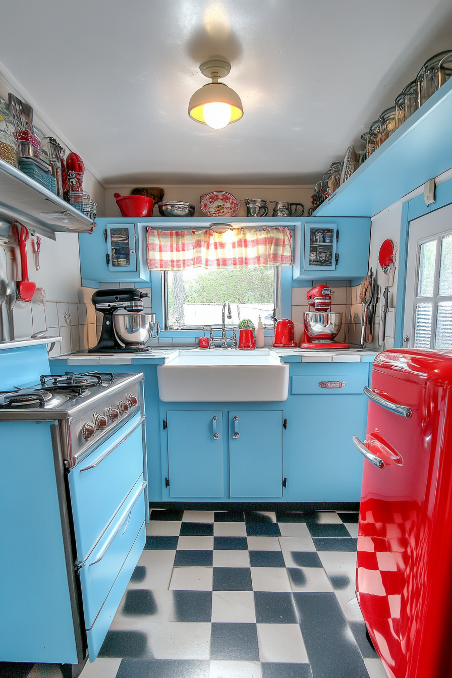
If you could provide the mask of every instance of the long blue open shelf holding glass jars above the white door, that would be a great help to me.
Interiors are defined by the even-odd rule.
[[[452,167],[452,79],[447,81],[312,216],[372,217]]]

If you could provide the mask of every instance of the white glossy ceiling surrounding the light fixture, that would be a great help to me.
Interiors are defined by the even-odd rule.
[[[450,0],[0,0],[0,62],[105,186],[312,184],[432,54]],[[243,119],[190,120],[199,64]]]

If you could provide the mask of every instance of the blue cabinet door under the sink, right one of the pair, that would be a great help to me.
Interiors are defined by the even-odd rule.
[[[229,412],[229,462],[231,497],[283,496],[283,412]]]

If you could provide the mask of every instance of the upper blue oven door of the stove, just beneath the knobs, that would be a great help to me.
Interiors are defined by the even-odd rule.
[[[77,558],[83,561],[143,473],[141,414],[91,452],[68,477]],[[123,440],[127,432],[130,435]],[[118,444],[121,440],[120,444]]]

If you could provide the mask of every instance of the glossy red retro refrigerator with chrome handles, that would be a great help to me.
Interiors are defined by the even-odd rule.
[[[365,391],[356,595],[390,677],[452,677],[452,351],[384,351]]]

